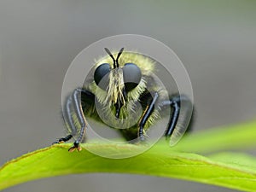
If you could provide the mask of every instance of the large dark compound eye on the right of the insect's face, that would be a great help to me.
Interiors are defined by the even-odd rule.
[[[126,63],[123,67],[125,90],[133,90],[142,79],[142,72],[134,63]]]

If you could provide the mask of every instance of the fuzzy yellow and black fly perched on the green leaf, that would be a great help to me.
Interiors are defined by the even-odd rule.
[[[179,93],[169,95],[172,90],[168,92],[162,77],[157,75],[158,61],[137,51],[124,51],[124,48],[119,51],[104,49],[107,54],[92,63],[83,87],[76,88],[67,97],[63,117],[67,116],[69,135],[58,143],[73,137],[75,142],[69,151],[80,150],[79,143],[86,137],[86,127],[89,123],[93,125],[88,119],[105,125],[96,125],[95,131],[113,128],[130,142],[144,141],[145,136],[152,137],[165,125],[165,133],[160,134],[177,143],[189,125],[192,113],[189,98]],[[182,104],[186,105],[183,110]],[[156,124],[159,119],[162,120]],[[153,131],[149,131],[149,127]]]

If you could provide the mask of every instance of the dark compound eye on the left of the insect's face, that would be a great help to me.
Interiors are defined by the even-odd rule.
[[[111,70],[111,67],[108,63],[103,63],[99,67],[96,67],[95,73],[94,73],[94,80],[95,83],[102,88],[102,90],[107,90],[109,79],[108,75]]]

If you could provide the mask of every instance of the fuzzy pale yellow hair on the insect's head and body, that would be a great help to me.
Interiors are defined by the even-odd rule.
[[[113,57],[116,58],[117,54],[118,52],[113,51]],[[105,55],[95,61],[94,69],[102,65],[102,63],[109,63],[110,66],[113,67],[112,58],[109,55]],[[120,116],[119,116],[119,119],[123,119],[121,120],[121,125],[120,125],[120,121],[117,121],[113,117],[113,110],[114,110],[113,103],[116,102],[117,96],[119,94],[118,90],[115,90],[115,87],[114,87],[115,84],[113,84],[113,82],[116,79],[119,79],[119,77],[113,76],[112,72],[109,74],[108,90],[102,90],[97,86],[97,84],[94,81],[84,84],[84,88],[87,90],[90,90],[96,96],[97,102],[99,102],[98,106],[100,106],[102,111],[102,116],[100,117],[100,119],[105,124],[110,125],[113,128],[119,128],[120,126],[131,128],[132,126],[134,131],[137,131],[138,123],[143,113],[142,111],[138,110],[139,106],[137,105],[137,102],[139,101],[139,97],[142,96],[143,92],[147,90],[147,77],[151,76],[152,73],[154,73],[155,61],[150,59],[147,56],[137,54],[136,52],[125,51],[119,57],[119,67],[120,68],[124,67],[125,63],[136,64],[137,67],[139,67],[141,70],[142,79],[140,83],[137,84],[136,88],[127,92],[127,100],[126,102],[124,101],[125,105],[124,107],[121,108]],[[119,73],[119,74],[122,75],[122,73]],[[119,86],[124,86],[124,84],[119,84]],[[155,89],[158,89],[158,87],[156,86]],[[155,90],[155,91],[158,91],[158,90]],[[91,111],[96,112],[96,110],[90,110],[90,113],[85,112],[85,116],[90,117]],[[150,125],[154,123],[156,119],[159,118],[159,116],[160,116],[159,111],[154,110],[154,112],[149,116],[148,121],[145,125],[146,130]],[[137,124],[134,125],[134,122],[137,122]],[[128,129],[128,130],[131,131],[131,129]]]

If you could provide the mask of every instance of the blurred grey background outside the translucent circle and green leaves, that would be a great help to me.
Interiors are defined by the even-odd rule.
[[[256,2],[0,1],[1,165],[63,135],[61,85],[79,51],[137,33],[171,47],[195,94],[195,131],[256,118]],[[87,174],[6,191],[233,191],[161,177]]]

